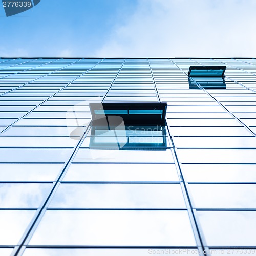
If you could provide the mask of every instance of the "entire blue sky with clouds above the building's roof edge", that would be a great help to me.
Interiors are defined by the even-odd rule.
[[[6,17],[2,57],[256,57],[255,0],[41,0]]]

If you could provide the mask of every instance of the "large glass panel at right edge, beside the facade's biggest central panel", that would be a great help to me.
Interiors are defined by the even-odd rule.
[[[197,211],[208,246],[255,246],[256,211]]]

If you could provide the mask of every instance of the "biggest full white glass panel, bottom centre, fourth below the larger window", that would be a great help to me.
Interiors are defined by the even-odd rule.
[[[48,210],[29,244],[195,246],[196,242],[185,210]]]

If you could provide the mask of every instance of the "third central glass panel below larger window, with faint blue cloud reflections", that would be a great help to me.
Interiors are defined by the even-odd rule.
[[[60,184],[51,208],[185,208],[180,184]]]

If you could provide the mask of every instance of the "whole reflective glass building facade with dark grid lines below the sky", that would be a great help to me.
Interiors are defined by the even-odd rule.
[[[90,102],[165,126],[102,135]],[[1,58],[0,255],[256,254],[255,136],[253,58]]]

